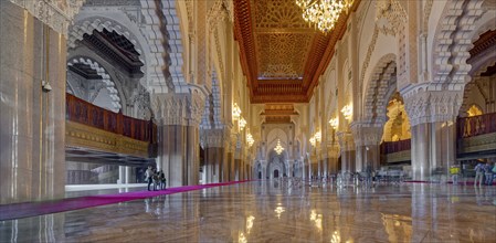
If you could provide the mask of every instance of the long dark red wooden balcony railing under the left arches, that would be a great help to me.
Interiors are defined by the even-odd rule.
[[[157,125],[95,106],[74,95],[65,96],[65,119],[119,134],[133,139],[157,142]]]

